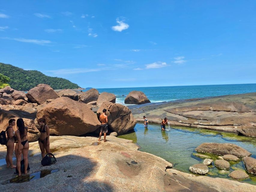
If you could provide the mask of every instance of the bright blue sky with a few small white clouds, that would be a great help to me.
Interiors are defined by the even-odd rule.
[[[256,83],[256,1],[1,1],[0,62],[81,87]]]

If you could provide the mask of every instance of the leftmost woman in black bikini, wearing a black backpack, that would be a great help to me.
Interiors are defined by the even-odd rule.
[[[15,135],[15,131],[13,130],[14,125],[15,125],[15,119],[10,119],[9,120],[9,126],[6,128],[7,154],[6,154],[5,161],[6,161],[6,164],[7,164],[7,168],[8,167],[11,167],[11,168],[16,167],[12,162],[12,155],[13,155],[13,151],[14,151],[14,135]]]

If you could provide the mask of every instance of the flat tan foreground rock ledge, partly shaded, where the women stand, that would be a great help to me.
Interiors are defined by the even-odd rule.
[[[233,192],[256,191],[256,186],[236,180],[195,176],[170,169],[172,164],[155,155],[138,151],[131,140],[107,136],[107,142],[96,137],[50,136],[50,149],[57,163],[41,167],[38,142],[29,143],[30,174],[55,170],[43,178],[24,183],[8,183],[13,169],[0,166],[0,188],[6,192]],[[6,146],[0,146],[5,158]],[[14,161],[16,164],[16,161]]]

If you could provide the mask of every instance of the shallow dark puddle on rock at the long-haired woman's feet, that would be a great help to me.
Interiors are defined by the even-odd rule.
[[[29,182],[29,181],[33,181],[36,179],[40,179],[43,178],[51,173],[55,173],[59,171],[58,169],[55,170],[42,170],[42,171],[38,171],[35,173],[32,173],[30,175],[21,175],[21,176],[16,176],[13,179],[10,179],[9,181],[2,183],[2,184],[8,184],[8,183],[24,183],[24,182]]]

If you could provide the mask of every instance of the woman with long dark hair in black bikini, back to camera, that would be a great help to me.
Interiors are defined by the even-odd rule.
[[[29,141],[27,138],[28,135],[28,128],[25,127],[23,119],[17,119],[17,127],[18,130],[15,131],[15,137],[18,140],[18,143],[15,145],[15,154],[16,154],[16,166],[19,172],[19,176],[21,176],[20,170],[20,161],[21,161],[21,154],[23,155],[24,159],[24,173],[27,174],[27,168],[29,164],[28,160],[28,153],[29,153]]]

